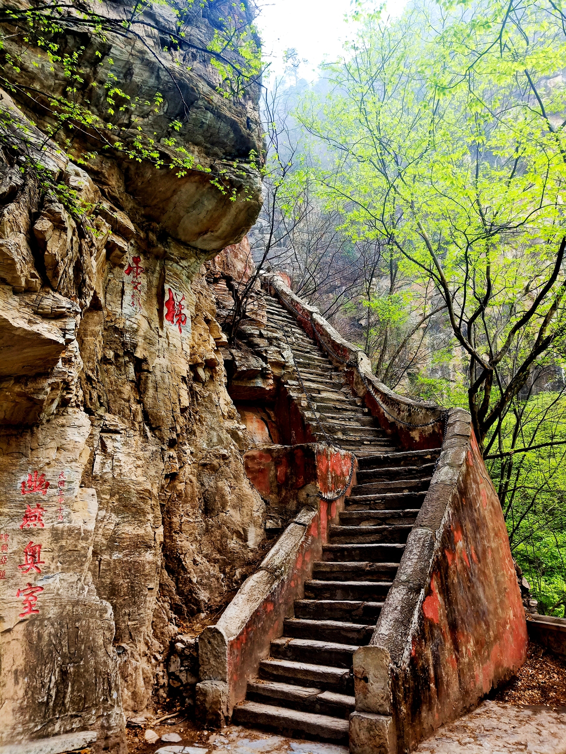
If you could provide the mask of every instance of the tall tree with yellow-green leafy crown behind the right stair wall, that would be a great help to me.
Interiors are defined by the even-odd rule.
[[[331,92],[300,112],[333,157],[316,174],[343,227],[433,281],[485,452],[564,333],[566,46],[550,11],[415,3],[383,23],[358,8]]]

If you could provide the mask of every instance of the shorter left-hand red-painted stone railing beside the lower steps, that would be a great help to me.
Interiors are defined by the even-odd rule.
[[[283,633],[295,599],[328,541],[328,523],[355,483],[355,458],[328,446],[264,446],[245,453],[248,479],[269,506],[291,521],[257,571],[241,585],[215,626],[198,637],[196,710],[220,728],[245,698],[248,681]],[[289,518],[287,514],[285,516]]]

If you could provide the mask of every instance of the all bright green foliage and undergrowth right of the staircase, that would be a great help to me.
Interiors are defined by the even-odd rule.
[[[405,300],[407,322],[440,303],[452,339],[407,370],[405,391],[472,412],[513,552],[541,608],[563,611],[566,406],[545,375],[566,334],[566,13],[555,0],[416,0],[385,23],[359,2],[352,25],[328,93],[298,112],[325,143],[321,201],[352,241],[389,248],[389,295],[433,284],[429,309]],[[395,314],[375,299],[368,332],[385,352]],[[434,376],[442,365],[450,377]]]

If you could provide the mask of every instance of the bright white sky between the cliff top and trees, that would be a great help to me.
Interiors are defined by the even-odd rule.
[[[401,13],[407,0],[388,0],[389,15]],[[300,75],[309,81],[317,77],[316,69],[326,56],[337,57],[341,40],[352,33],[344,15],[352,8],[350,0],[259,0],[257,26],[263,38],[263,55],[270,69],[281,75],[283,52],[296,48],[301,60]]]

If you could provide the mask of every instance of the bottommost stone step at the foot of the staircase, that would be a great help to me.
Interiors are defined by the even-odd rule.
[[[291,737],[304,734],[323,741],[348,743],[349,722],[337,717],[245,700],[234,707],[232,719],[243,725],[273,728]]]

